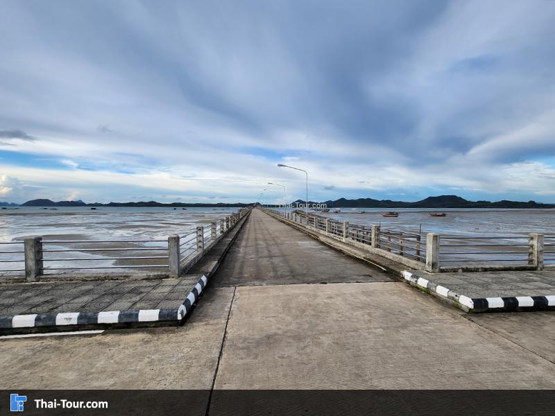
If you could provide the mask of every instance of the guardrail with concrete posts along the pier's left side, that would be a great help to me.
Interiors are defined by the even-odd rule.
[[[182,235],[164,240],[45,240],[31,237],[24,241],[0,243],[0,276],[38,281],[41,277],[89,273],[125,274],[133,270],[159,272],[179,277],[212,248],[250,209],[240,209],[230,216],[198,226]],[[6,248],[7,247],[7,248]],[[2,257],[3,256],[3,257]]]

